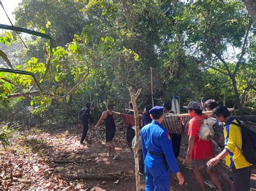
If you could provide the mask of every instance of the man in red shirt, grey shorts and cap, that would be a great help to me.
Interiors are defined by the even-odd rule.
[[[198,137],[200,126],[204,123],[203,120],[208,118],[202,113],[200,105],[197,102],[190,102],[184,108],[188,109],[188,113],[192,117],[188,123],[188,148],[186,155],[186,163],[193,168],[194,175],[199,184],[200,190],[205,190],[204,179],[200,169],[205,168],[205,171],[210,175],[210,178],[219,191],[223,190],[220,180],[212,169],[207,168],[206,163],[214,157],[214,149],[212,141],[205,141]]]

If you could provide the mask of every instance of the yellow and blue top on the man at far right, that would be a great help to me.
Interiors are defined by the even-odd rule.
[[[231,117],[226,124],[234,122],[237,123],[237,120]],[[226,165],[229,167],[235,166],[236,169],[245,168],[251,166],[252,164],[246,161],[244,155],[239,151],[237,147],[242,148],[242,134],[240,126],[229,124],[224,125],[224,137],[225,137],[225,149],[229,155],[226,156]]]

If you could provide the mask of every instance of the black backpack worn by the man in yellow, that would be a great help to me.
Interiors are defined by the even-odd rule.
[[[234,124],[240,126],[242,133],[242,150],[240,152],[244,155],[245,159],[253,165],[256,165],[256,133],[246,128],[245,125],[241,124],[241,122],[236,119],[237,123],[230,122],[226,123],[225,126]]]

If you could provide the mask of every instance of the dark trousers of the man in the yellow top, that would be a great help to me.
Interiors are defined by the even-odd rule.
[[[250,178],[252,166],[236,169],[232,168],[235,191],[250,191]]]

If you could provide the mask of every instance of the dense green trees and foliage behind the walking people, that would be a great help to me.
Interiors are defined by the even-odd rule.
[[[53,125],[75,121],[86,102],[92,103],[96,118],[107,102],[123,110],[130,101],[129,86],[143,88],[142,110],[151,103],[150,67],[157,104],[173,95],[181,104],[204,96],[221,103],[225,95],[228,107],[255,105],[255,39],[241,2],[23,1],[15,15],[19,26],[54,38],[50,65],[50,44],[31,37],[25,63],[16,66],[34,73],[45,93],[45,107],[33,94],[26,96],[26,107]],[[44,76],[46,67],[49,75]],[[4,108],[21,102],[10,102],[8,95],[35,91],[31,76],[1,77],[8,80],[0,79]]]

